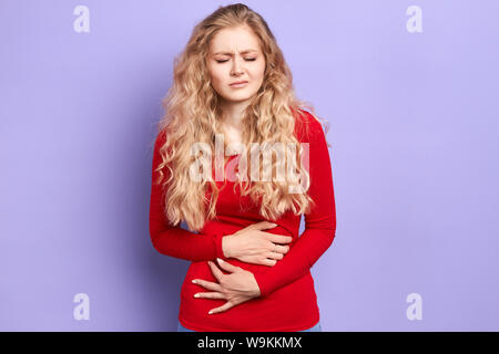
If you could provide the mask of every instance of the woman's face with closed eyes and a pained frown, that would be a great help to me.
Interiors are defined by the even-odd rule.
[[[212,39],[207,58],[212,86],[222,100],[251,100],[264,79],[265,58],[258,39],[246,27],[226,28]],[[235,83],[244,82],[235,85]]]

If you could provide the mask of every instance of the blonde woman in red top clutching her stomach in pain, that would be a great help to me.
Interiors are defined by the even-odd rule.
[[[329,154],[262,17],[232,4],[200,22],[163,104],[150,233],[160,253],[192,261],[179,330],[320,331],[309,269],[335,237]],[[259,164],[253,153],[277,143],[287,155]],[[277,178],[283,166],[299,178]]]

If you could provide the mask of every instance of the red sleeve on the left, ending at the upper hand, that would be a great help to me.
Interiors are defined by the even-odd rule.
[[[149,229],[151,241],[154,249],[165,256],[181,258],[191,261],[207,261],[215,258],[222,258],[222,233],[213,236],[194,233],[182,229],[180,226],[173,227],[166,220],[164,215],[164,198],[162,186],[157,184],[160,176],[155,171],[162,162],[160,147],[165,143],[166,135],[162,131],[154,143],[154,154],[152,162],[152,184],[151,184],[151,204],[150,204],[150,221]],[[167,178],[169,171],[164,167],[162,169],[164,177]],[[164,179],[162,180],[162,183]]]

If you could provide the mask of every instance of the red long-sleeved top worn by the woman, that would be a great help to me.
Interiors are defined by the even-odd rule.
[[[179,321],[187,329],[211,332],[295,332],[312,327],[319,321],[317,296],[312,266],[329,248],[336,232],[336,210],[333,175],[325,134],[320,124],[308,112],[297,114],[295,136],[301,143],[309,143],[309,196],[316,206],[305,215],[305,231],[298,237],[301,216],[285,212],[278,226],[265,232],[292,236],[289,251],[273,267],[252,264],[225,258],[222,238],[252,223],[264,221],[257,206],[249,196],[242,197],[234,181],[226,180],[216,202],[217,219],[207,221],[198,233],[171,226],[163,214],[164,200],[161,186],[155,184],[161,163],[159,148],[166,136],[162,131],[154,144],[152,191],[150,206],[150,235],[154,248],[162,254],[190,260],[181,290]],[[309,133],[304,134],[304,124]],[[238,155],[232,156],[230,160]],[[228,163],[228,162],[227,162]],[[167,175],[167,169],[163,169]],[[224,183],[217,181],[218,187]],[[225,312],[208,314],[226,300],[196,299],[197,292],[210,290],[192,283],[193,279],[217,282],[212,274],[208,260],[221,258],[231,264],[251,271],[258,283],[262,295],[241,303]],[[215,261],[216,263],[216,261]]]

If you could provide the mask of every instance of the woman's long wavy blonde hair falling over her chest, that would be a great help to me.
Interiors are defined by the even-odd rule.
[[[205,143],[214,152],[215,134],[222,134],[220,97],[211,85],[205,60],[213,37],[222,29],[237,25],[253,30],[266,61],[263,84],[244,112],[242,143],[248,152],[251,143],[295,144],[299,156],[295,159],[294,170],[309,181],[301,158],[303,147],[294,136],[295,122],[297,114],[304,114],[299,113],[302,108],[307,108],[319,122],[322,118],[317,117],[312,104],[295,97],[292,72],[265,20],[241,3],[220,7],[195,25],[185,49],[175,56],[173,84],[162,100],[165,113],[159,122],[159,132],[164,131],[167,136],[160,148],[162,163],[155,169],[160,173],[157,183],[164,180],[165,217],[172,225],[185,221],[195,231],[200,231],[206,220],[216,218],[215,205],[220,192],[213,180],[190,178],[190,166],[196,158],[191,155],[193,144]],[[282,163],[273,158],[272,170]],[[165,166],[169,178],[163,178]],[[262,164],[261,170],[266,167]],[[249,195],[256,205],[261,205],[259,214],[268,220],[277,219],[289,209],[295,215],[306,214],[314,205],[306,192],[288,194],[287,180],[248,184],[240,179],[237,184],[241,195]],[[206,198],[208,187],[211,198]]]

